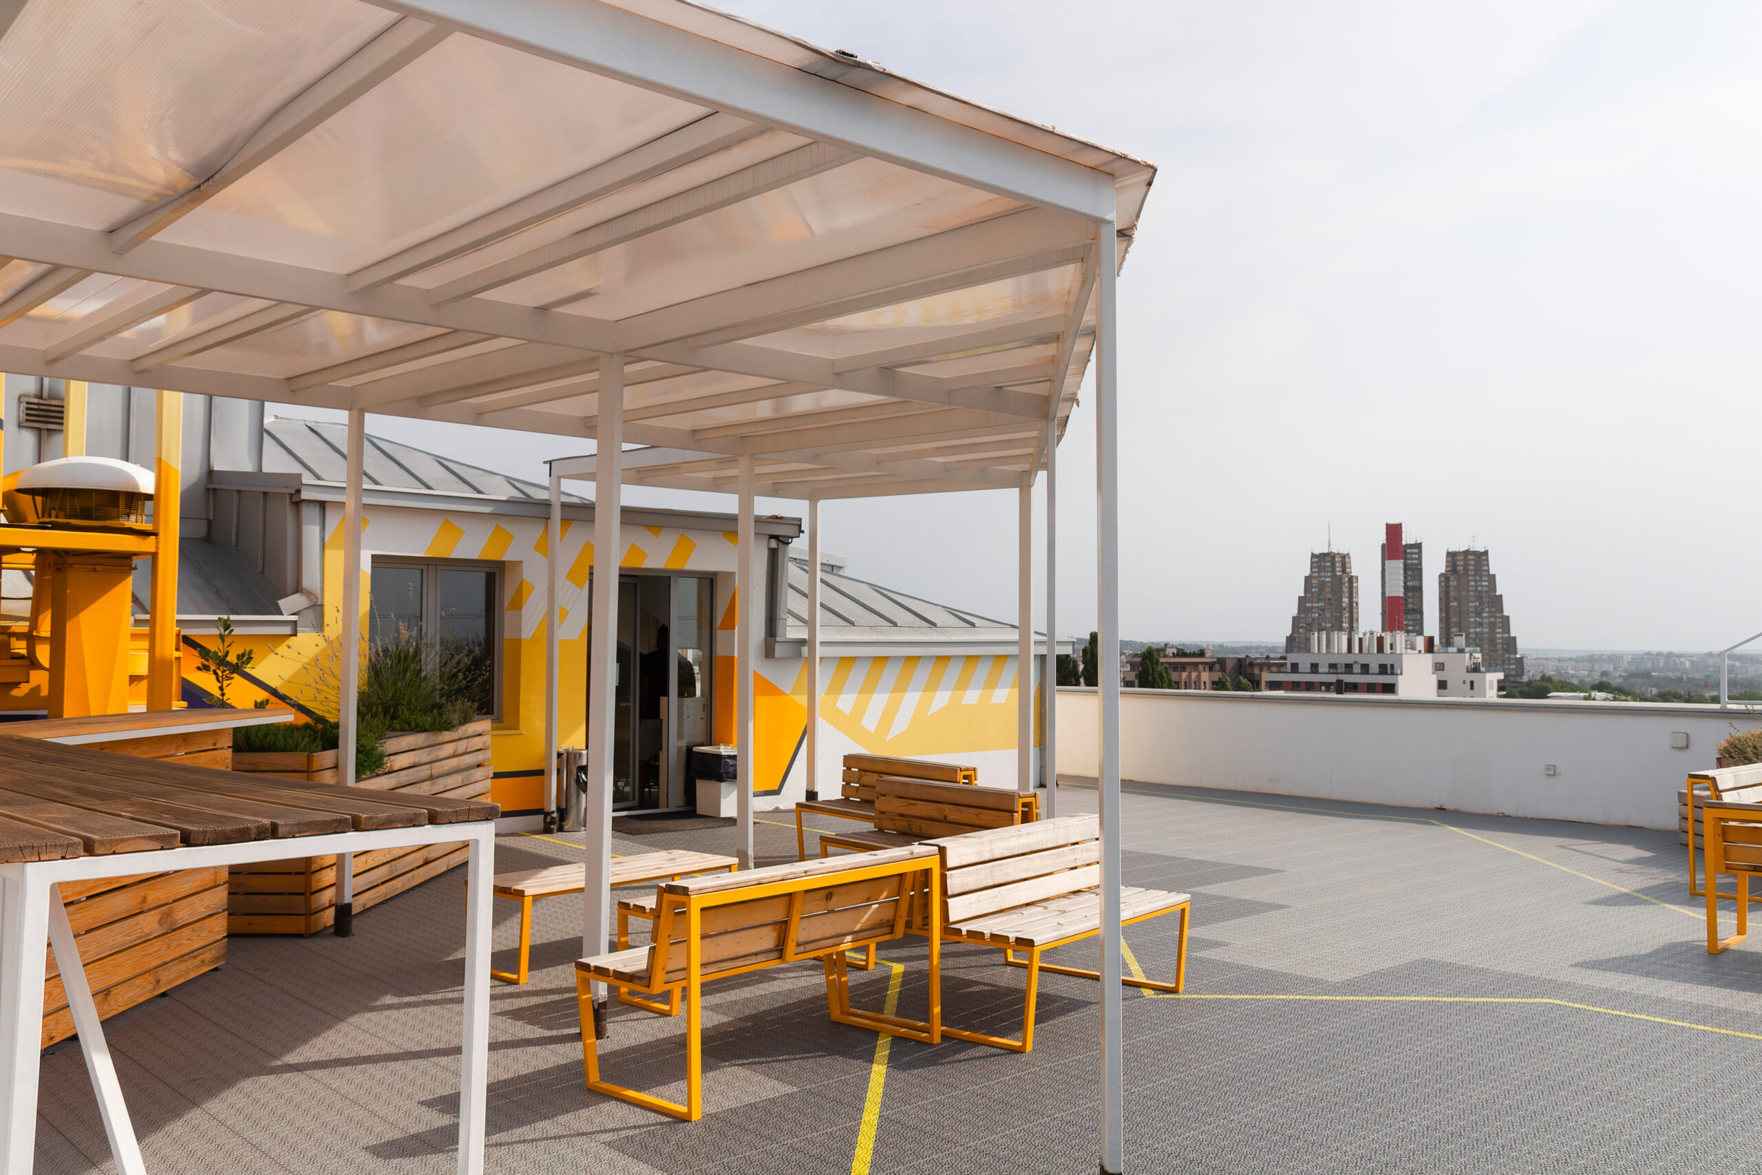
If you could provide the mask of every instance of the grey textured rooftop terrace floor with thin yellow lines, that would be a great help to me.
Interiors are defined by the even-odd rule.
[[[1126,1170],[1753,1166],[1751,1090],[1706,1078],[1762,1055],[1762,953],[1706,953],[1674,833],[1126,791],[1126,884],[1195,898],[1188,995],[1126,994]],[[1061,793],[1066,812],[1094,798]],[[765,819],[761,863],[793,860],[793,828]],[[729,851],[733,835],[618,835],[613,851]],[[499,870],[581,856],[567,833],[497,853]],[[463,893],[460,868],[363,914],[352,939],[233,939],[220,971],[107,1022],[148,1170],[455,1170]],[[506,965],[515,904],[499,905]],[[492,1171],[1096,1166],[1085,979],[1041,978],[1033,1053],[895,1039],[885,1083],[876,1036],[826,1020],[812,964],[712,985],[708,1113],[684,1124],[581,1087],[580,918],[576,900],[541,902],[530,983],[493,992]],[[1175,930],[1128,927],[1149,974],[1172,976]],[[881,957],[907,964],[899,1001],[918,1015],[923,944]],[[853,974],[879,1006],[893,971]],[[1006,1031],[1022,981],[997,951],[944,948],[951,1022]],[[604,1062],[678,1097],[680,1029],[615,1004]],[[39,1171],[111,1170],[72,1041],[44,1059],[37,1138]]]

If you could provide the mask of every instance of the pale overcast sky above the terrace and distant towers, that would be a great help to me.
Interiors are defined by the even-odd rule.
[[[1122,636],[1283,639],[1330,527],[1369,627],[1385,521],[1427,622],[1473,541],[1522,648],[1762,629],[1762,5],[724,7],[1161,169],[1121,278]],[[1094,622],[1084,398],[1061,634]],[[534,477],[590,447],[372,430]],[[1013,618],[1013,493],[821,509],[853,574]]]

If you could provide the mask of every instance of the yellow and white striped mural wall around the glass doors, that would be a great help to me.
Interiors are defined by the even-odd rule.
[[[567,511],[566,511],[567,513]],[[664,520],[670,511],[643,511]],[[685,518],[682,514],[682,518]],[[700,516],[689,516],[701,520]],[[587,742],[587,620],[589,574],[594,564],[594,527],[564,518],[559,551],[559,745]],[[255,652],[250,676],[268,694],[324,706],[326,685],[335,698],[344,534],[342,504],[322,507],[322,631],[287,638],[250,638],[238,647]],[[759,536],[765,541],[765,536]],[[670,525],[626,525],[620,567],[633,573],[678,571],[715,580],[715,678],[712,738],[737,742],[735,721],[735,597],[737,546],[733,530]],[[426,506],[363,506],[361,530],[363,624],[370,608],[368,573],[375,557],[472,560],[500,569],[499,715],[492,728],[492,798],[504,812],[527,814],[544,796],[544,617],[548,532],[543,516],[433,509]],[[761,567],[765,560],[754,560]],[[759,595],[759,599],[765,599]],[[763,625],[758,625],[761,631]],[[997,654],[937,655],[888,650],[886,655],[842,655],[821,661],[819,787],[837,793],[842,756],[867,754],[936,757],[980,768],[981,782],[1015,784],[1017,659],[1013,631],[1003,631]],[[206,643],[206,639],[204,639]],[[839,647],[860,647],[840,632]],[[185,673],[196,685],[194,657]],[[803,798],[807,765],[807,671],[800,657],[754,659],[754,791],[759,809],[788,809]],[[231,705],[250,705],[263,691],[236,685]],[[1038,743],[1038,728],[1036,728]]]

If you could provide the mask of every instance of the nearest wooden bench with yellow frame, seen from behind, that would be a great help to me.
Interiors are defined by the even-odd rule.
[[[936,1045],[943,1038],[939,923],[930,927],[929,1020],[853,1009],[844,951],[904,937],[911,898],[920,890],[932,895],[936,923],[937,863],[934,847],[909,846],[659,886],[648,946],[574,965],[587,1087],[696,1122],[703,1117],[703,985],[812,958],[825,969],[832,1020]],[[594,981],[643,995],[684,994],[684,1105],[601,1078],[592,1029]]]

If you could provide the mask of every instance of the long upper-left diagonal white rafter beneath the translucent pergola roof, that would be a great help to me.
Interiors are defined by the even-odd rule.
[[[129,252],[141,241],[166,231],[180,217],[189,215],[206,201],[238,183],[252,171],[270,162],[298,143],[314,127],[342,111],[386,78],[419,58],[453,33],[451,28],[414,18],[403,18],[356,49],[310,86],[289,99],[278,111],[257,127],[257,132],[220,164],[213,174],[187,192],[180,192],[159,206],[111,229],[109,243],[116,252]]]

